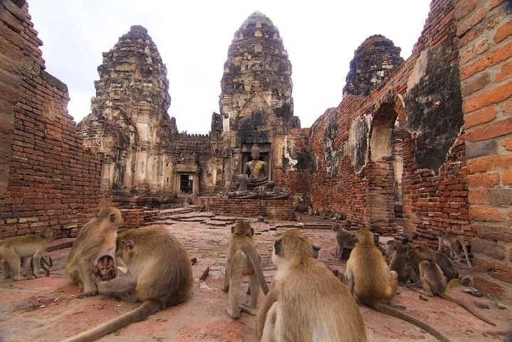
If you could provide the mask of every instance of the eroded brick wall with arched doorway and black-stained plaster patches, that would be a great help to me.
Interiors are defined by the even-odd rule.
[[[426,244],[439,232],[471,240],[453,14],[454,1],[432,1],[412,56],[384,85],[345,96],[315,122],[315,209],[377,232],[403,227]]]

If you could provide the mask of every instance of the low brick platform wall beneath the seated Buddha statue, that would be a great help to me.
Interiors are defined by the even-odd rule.
[[[293,213],[293,200],[290,199],[243,199],[196,197],[194,204],[206,205],[216,214],[225,214],[238,217],[258,217],[266,219],[295,220]]]

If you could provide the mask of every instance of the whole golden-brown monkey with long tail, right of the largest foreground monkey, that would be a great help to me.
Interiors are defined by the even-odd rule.
[[[390,271],[382,253],[375,247],[370,229],[359,229],[355,233],[355,247],[347,261],[345,276],[348,289],[363,304],[371,306],[382,314],[395,316],[419,326],[440,341],[449,341],[443,333],[429,324],[389,305],[397,291],[398,275],[397,272]]]

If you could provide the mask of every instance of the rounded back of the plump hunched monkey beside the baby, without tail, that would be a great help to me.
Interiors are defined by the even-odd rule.
[[[192,294],[192,264],[183,244],[163,226],[132,229],[120,234],[134,242],[128,267],[139,274],[135,296],[158,300],[163,306],[185,301]],[[138,243],[137,241],[144,241]]]

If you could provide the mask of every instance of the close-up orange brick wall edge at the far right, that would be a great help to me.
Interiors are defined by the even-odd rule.
[[[456,1],[475,284],[512,301],[512,4]]]

